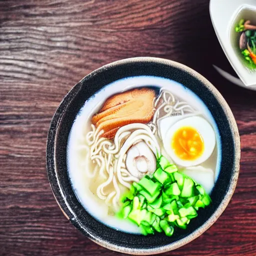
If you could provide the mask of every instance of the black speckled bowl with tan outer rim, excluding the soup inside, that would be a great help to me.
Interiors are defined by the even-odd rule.
[[[221,164],[211,193],[212,204],[199,212],[186,230],[171,237],[162,233],[137,235],[117,231],[93,218],[78,201],[69,181],[66,145],[75,116],[86,99],[115,80],[153,75],[182,83],[197,94],[217,124],[221,140]],[[180,63],[153,57],[135,57],[102,66],[80,80],[64,97],[50,123],[47,139],[47,173],[52,192],[71,223],[94,242],[120,252],[151,255],[178,248],[202,234],[227,206],[239,172],[240,141],[230,108],[216,88],[203,76]]]

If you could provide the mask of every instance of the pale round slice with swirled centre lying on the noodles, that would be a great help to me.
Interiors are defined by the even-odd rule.
[[[125,165],[132,176],[140,179],[155,171],[155,155],[144,141],[140,141],[127,151]]]

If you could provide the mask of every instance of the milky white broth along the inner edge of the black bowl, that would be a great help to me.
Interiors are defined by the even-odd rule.
[[[103,102],[113,94],[137,87],[165,88],[173,93],[176,98],[183,99],[195,110],[198,110],[200,116],[203,116],[211,124],[216,135],[216,146],[211,156],[200,165],[205,168],[213,169],[214,181],[216,181],[218,177],[221,157],[220,137],[212,115],[201,99],[182,84],[154,76],[127,77],[106,85],[95,95],[90,97],[78,112],[68,137],[67,169],[70,181],[77,198],[92,216],[112,228],[132,233],[139,233],[139,228],[128,220],[117,218],[114,215],[114,210],[108,207],[104,200],[99,199],[98,196],[95,195],[98,184],[95,183],[95,178],[89,178],[84,171],[84,159],[87,153],[86,150],[82,148],[86,143],[84,135],[91,129],[91,117],[99,110]],[[160,148],[162,150],[162,145],[160,145]],[[92,168],[92,163],[90,166]],[[99,182],[99,180],[97,180],[97,182]],[[119,187],[121,193],[127,189],[120,185]],[[107,188],[112,189],[111,185]]]

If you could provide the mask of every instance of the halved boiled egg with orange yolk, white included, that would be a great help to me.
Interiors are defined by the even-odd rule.
[[[168,125],[165,132],[161,132],[164,129],[159,127],[164,149],[180,166],[198,165],[211,155],[216,143],[215,132],[200,116],[178,117],[173,116],[174,123]],[[159,123],[161,125],[163,122]]]

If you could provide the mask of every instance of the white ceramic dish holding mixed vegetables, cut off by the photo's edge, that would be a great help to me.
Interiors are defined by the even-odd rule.
[[[241,61],[234,27],[241,18],[256,22],[256,0],[210,0],[209,11],[220,45],[242,81],[240,85],[255,90],[256,70],[248,69]]]

